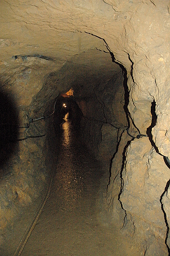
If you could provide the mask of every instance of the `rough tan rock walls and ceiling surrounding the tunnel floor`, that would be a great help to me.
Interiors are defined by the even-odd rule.
[[[51,114],[73,87],[85,143],[112,162],[112,222],[139,256],[168,255],[170,2],[2,1],[0,37],[0,245],[47,187]]]

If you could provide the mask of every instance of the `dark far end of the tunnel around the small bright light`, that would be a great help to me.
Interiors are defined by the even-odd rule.
[[[73,96],[59,96],[56,101],[54,113],[54,128],[57,136],[61,132],[60,126],[65,122],[63,118],[67,113],[73,128],[80,131],[80,122],[83,117],[81,109],[73,99]]]

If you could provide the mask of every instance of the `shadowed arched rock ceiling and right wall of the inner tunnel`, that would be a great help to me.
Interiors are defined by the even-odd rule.
[[[113,62],[110,53],[89,50],[72,58],[53,76],[49,75],[46,82],[48,85],[53,83],[60,95],[56,107],[62,102],[60,97],[74,88],[73,102],[81,112],[80,130],[84,142],[103,159],[113,157],[118,138],[128,126],[124,110],[125,96],[127,104],[125,74],[122,67]],[[61,91],[61,85],[68,89]]]

